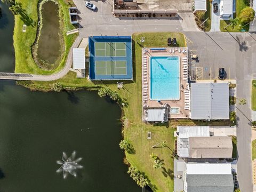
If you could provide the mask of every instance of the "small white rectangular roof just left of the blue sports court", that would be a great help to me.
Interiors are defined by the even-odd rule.
[[[84,48],[73,48],[73,69],[85,69]]]

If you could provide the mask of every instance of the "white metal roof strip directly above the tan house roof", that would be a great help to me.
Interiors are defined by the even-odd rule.
[[[178,126],[179,138],[210,137],[209,126]]]

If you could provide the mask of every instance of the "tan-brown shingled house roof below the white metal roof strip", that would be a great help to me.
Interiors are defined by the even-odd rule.
[[[231,158],[231,137],[190,137],[190,158]]]

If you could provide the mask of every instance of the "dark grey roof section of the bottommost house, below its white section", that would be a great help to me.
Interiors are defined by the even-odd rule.
[[[187,184],[187,192],[234,191],[234,182],[232,174],[188,174]]]

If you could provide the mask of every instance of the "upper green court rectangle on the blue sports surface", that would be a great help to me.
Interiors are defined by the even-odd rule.
[[[125,42],[95,42],[95,56],[126,57]]]

